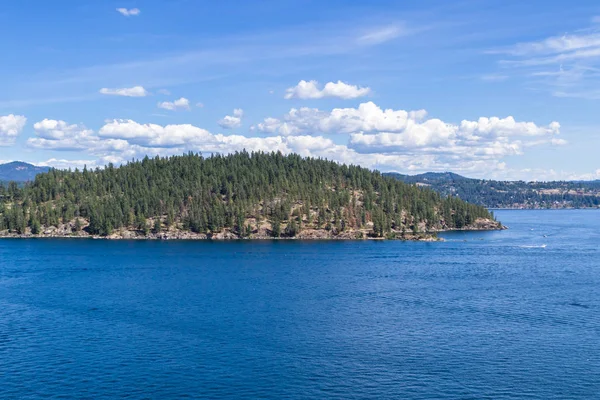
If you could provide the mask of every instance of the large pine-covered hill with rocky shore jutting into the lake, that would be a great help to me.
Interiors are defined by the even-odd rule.
[[[146,157],[0,185],[2,237],[434,240],[502,228],[456,197],[294,154]]]

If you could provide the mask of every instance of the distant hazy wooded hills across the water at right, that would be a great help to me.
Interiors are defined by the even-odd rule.
[[[488,208],[598,208],[600,180],[493,181],[471,179],[452,172],[420,175],[385,173],[405,183],[427,186],[442,196],[456,196]]]

